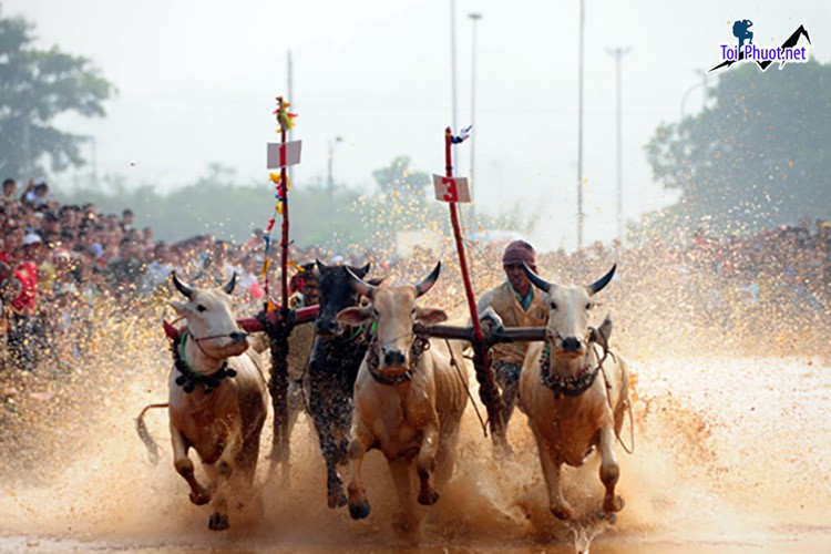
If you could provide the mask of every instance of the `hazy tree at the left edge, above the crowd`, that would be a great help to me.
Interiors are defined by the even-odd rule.
[[[102,116],[102,102],[114,86],[92,62],[52,47],[32,47],[33,25],[0,14],[0,175],[25,178],[42,172],[43,157],[53,171],[83,164],[83,137],[52,126],[52,120],[74,111]]]

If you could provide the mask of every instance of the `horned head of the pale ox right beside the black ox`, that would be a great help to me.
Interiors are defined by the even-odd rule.
[[[376,321],[381,370],[403,372],[409,369],[410,347],[416,338],[413,324],[435,325],[448,319],[443,310],[416,305],[416,299],[435,285],[439,271],[441,261],[424,280],[403,287],[375,287],[350,273],[351,286],[372,304],[342,310],[338,321],[352,326]]]

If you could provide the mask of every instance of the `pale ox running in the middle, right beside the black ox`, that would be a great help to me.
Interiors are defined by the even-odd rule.
[[[350,273],[355,289],[372,304],[338,314],[342,324],[375,322],[377,329],[355,383],[349,513],[356,520],[369,515],[361,463],[367,451],[377,448],[387,458],[399,496],[400,513],[393,526],[404,534],[416,534],[419,527],[413,461],[420,481],[418,502],[432,505],[439,500],[437,482],[443,484],[452,475],[459,425],[468,403],[461,343],[451,346],[451,358],[443,341],[428,341],[413,334],[417,321],[433,325],[447,319],[440,309],[416,305],[435,284],[440,269],[438,264],[423,281],[403,287],[373,287]]]

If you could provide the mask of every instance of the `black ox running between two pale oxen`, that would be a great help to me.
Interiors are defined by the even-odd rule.
[[[368,332],[362,327],[345,327],[336,319],[339,311],[360,302],[346,268],[317,261],[320,311],[315,321],[315,345],[309,359],[309,409],[326,459],[329,507],[347,503],[338,465],[347,462],[352,391],[368,343]],[[362,279],[369,273],[369,264],[349,269]],[[370,283],[377,285],[380,279]]]

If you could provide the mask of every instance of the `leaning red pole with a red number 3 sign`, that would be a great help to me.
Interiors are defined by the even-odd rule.
[[[462,228],[459,224],[459,213],[456,203],[470,202],[470,184],[465,177],[453,176],[453,145],[462,143],[472,127],[466,127],[458,136],[453,136],[450,127],[444,131],[444,168],[445,176],[433,175],[433,186],[435,188],[435,199],[447,202],[450,205],[450,222],[453,226],[453,236],[455,238],[455,249],[459,255],[459,267],[462,271],[464,281],[464,294],[468,297],[468,308],[470,309],[471,321],[473,325],[473,365],[476,370],[476,381],[479,381],[479,394],[488,409],[488,420],[491,428],[493,444],[499,454],[507,454],[510,447],[505,438],[505,423],[502,420],[502,397],[500,396],[496,380],[494,379],[493,369],[491,368],[491,357],[488,345],[485,343],[482,326],[479,322],[476,312],[476,301],[473,298],[473,286],[470,281],[468,270],[468,260],[464,253],[464,243],[462,242]]]

